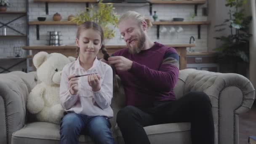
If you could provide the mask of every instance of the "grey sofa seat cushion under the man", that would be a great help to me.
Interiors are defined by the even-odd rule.
[[[118,128],[118,144],[124,144],[123,136]],[[144,127],[151,144],[191,144],[190,123],[166,123]]]

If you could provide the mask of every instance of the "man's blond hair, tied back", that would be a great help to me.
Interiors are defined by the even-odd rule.
[[[137,13],[136,11],[128,11],[128,12],[124,13],[121,16],[121,18],[119,19],[118,24],[120,24],[123,20],[130,19],[130,18],[134,19],[135,21],[137,21],[138,24],[141,24],[142,21],[146,21],[148,29],[150,27],[152,27],[152,23],[151,23],[150,19],[145,18],[144,16],[142,16],[139,13]]]

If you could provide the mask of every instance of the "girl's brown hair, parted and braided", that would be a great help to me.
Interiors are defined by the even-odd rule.
[[[78,29],[77,29],[77,39],[79,39],[80,37],[80,33],[83,31],[83,30],[86,30],[86,29],[93,29],[95,31],[98,31],[101,35],[101,52],[104,54],[107,52],[103,42],[104,42],[104,32],[101,28],[101,26],[99,24],[97,24],[96,22],[93,22],[93,21],[85,21],[83,24],[80,24],[78,26]],[[79,52],[80,52],[80,48],[77,47],[76,49],[76,54],[77,54],[77,57],[79,56]]]

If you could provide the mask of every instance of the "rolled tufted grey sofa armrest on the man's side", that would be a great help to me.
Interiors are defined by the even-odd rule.
[[[217,73],[186,69],[184,93],[205,92],[212,103],[219,144],[238,144],[238,115],[251,109],[255,89],[246,77],[234,73]]]

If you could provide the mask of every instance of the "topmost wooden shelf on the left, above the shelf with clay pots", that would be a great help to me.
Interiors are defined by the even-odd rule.
[[[89,3],[97,3],[98,0],[34,0],[35,3],[45,3],[45,12],[49,14],[48,3],[86,3],[86,8]]]

